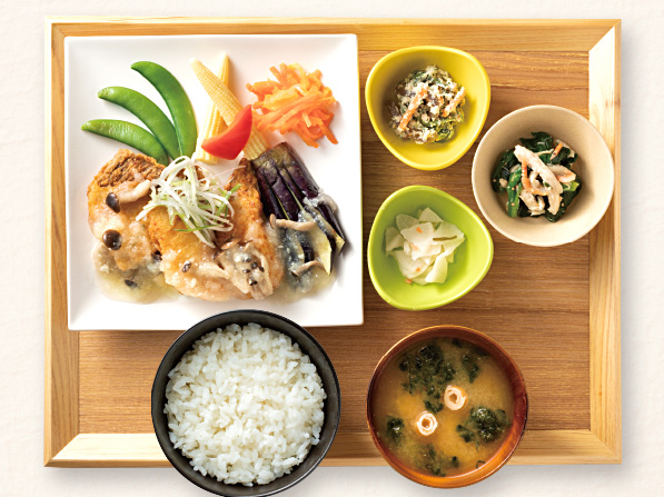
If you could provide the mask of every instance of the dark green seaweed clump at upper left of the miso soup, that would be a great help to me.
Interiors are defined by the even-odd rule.
[[[426,394],[424,406],[430,412],[436,414],[443,409],[440,395],[454,379],[456,371],[445,361],[440,347],[429,344],[415,354],[406,354],[399,362],[399,368],[408,374],[408,381],[402,385],[405,390],[409,394]]]

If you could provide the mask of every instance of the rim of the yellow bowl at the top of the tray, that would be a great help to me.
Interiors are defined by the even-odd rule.
[[[380,67],[385,66],[390,60],[396,59],[397,57],[400,57],[400,56],[404,56],[407,53],[412,53],[412,52],[416,52],[416,51],[423,51],[423,50],[434,50],[434,51],[440,51],[440,52],[446,52],[446,53],[454,53],[456,56],[464,57],[464,58],[470,60],[473,66],[475,66],[476,68],[479,69],[479,76],[482,77],[483,87],[486,89],[486,106],[485,106],[485,109],[483,112],[482,122],[475,130],[475,133],[473,135],[473,139],[468,140],[468,143],[466,143],[464,147],[460,147],[459,151],[457,153],[455,153],[452,159],[448,159],[446,161],[443,161],[440,163],[433,165],[433,166],[423,165],[420,162],[409,159],[408,157],[404,156],[402,152],[399,152],[396,148],[394,148],[388,142],[387,138],[385,137],[383,131],[380,131],[380,128],[378,127],[377,117],[375,117],[375,112],[374,112],[374,106],[371,105],[371,99],[369,98],[369,92],[373,88],[375,72],[377,72],[377,70]],[[475,143],[475,141],[477,140],[477,137],[484,129],[484,125],[486,122],[486,118],[488,116],[488,110],[490,107],[490,101],[492,101],[490,80],[489,80],[488,73],[486,72],[486,69],[482,64],[482,62],[479,62],[479,60],[477,60],[477,58],[475,56],[473,56],[472,53],[466,52],[464,50],[460,50],[457,48],[452,48],[452,47],[436,46],[436,44],[420,44],[420,46],[416,46],[416,47],[406,47],[406,48],[402,48],[399,50],[395,50],[393,52],[389,52],[389,53],[383,56],[369,71],[369,74],[367,76],[367,81],[365,85],[365,105],[367,107],[367,113],[369,115],[369,120],[371,121],[371,127],[374,128],[374,131],[376,132],[376,135],[378,135],[380,142],[398,160],[400,160],[402,162],[404,162],[407,166],[410,166],[415,169],[419,169],[423,171],[437,171],[440,169],[448,168],[450,166],[454,166],[456,162],[458,162],[458,160],[462,157],[464,157],[466,155],[466,152],[470,149],[470,147],[473,147],[473,143]]]

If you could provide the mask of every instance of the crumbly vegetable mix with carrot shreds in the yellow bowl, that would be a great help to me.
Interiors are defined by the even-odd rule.
[[[437,66],[410,72],[395,88],[395,101],[386,103],[395,132],[416,143],[449,140],[464,121],[466,89]]]

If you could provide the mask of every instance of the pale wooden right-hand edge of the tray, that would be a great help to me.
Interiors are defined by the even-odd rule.
[[[591,430],[621,461],[621,24],[591,50],[591,121],[615,162],[613,201],[591,232]]]

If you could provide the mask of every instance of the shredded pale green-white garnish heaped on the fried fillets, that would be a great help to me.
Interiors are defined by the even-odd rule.
[[[224,189],[212,175],[189,157],[179,157],[152,180],[150,201],[137,216],[146,217],[156,207],[166,207],[170,223],[179,217],[186,230],[207,246],[215,247],[212,231],[230,231],[232,207],[229,198],[239,188]]]

